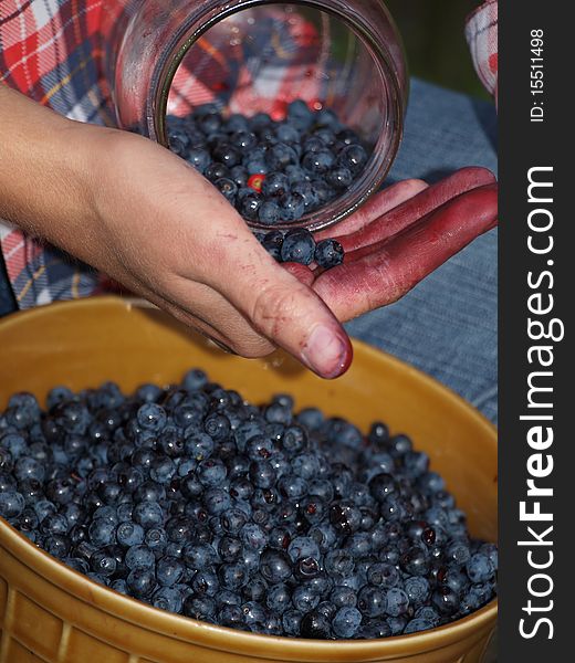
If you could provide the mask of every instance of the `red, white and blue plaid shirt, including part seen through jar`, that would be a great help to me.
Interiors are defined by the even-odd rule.
[[[113,124],[102,72],[102,4],[103,0],[0,0],[0,83],[70,118]],[[297,15],[282,25],[284,15],[270,10],[270,34],[280,33],[273,45],[271,39],[251,46],[229,39],[200,40],[188,71],[180,69],[175,78],[169,112],[184,115],[191,105],[215,97],[227,101],[234,112],[249,108],[255,86],[259,107],[264,97],[265,109],[281,115],[290,101],[281,62],[285,53],[292,63],[290,80],[301,81],[299,96],[312,103],[323,96],[318,78],[309,71],[321,48],[317,33]],[[496,92],[496,1],[488,0],[471,14],[466,30],[478,74],[491,92]],[[231,81],[233,98],[226,99],[226,91],[218,87],[222,80]],[[290,93],[294,93],[292,83]],[[1,220],[0,248],[20,308],[87,296],[109,286],[86,265]]]

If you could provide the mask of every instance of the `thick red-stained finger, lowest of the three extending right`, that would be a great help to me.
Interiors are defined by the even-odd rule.
[[[383,248],[322,274],[314,290],[341,320],[397,301],[496,224],[496,185],[462,193]]]

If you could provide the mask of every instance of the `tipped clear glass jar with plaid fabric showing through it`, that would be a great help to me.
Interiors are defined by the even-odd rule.
[[[343,194],[274,228],[336,223],[379,188],[397,154],[408,77],[381,0],[105,0],[104,32],[122,128],[167,146],[167,113],[213,101],[224,114],[282,119],[303,98],[333,109],[369,146],[367,166]]]

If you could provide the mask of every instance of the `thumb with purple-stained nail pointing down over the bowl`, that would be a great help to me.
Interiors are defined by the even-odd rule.
[[[344,328],[322,298],[296,275],[281,267],[251,235],[243,238],[242,260],[217,285],[273,344],[322,378],[336,378],[352,361]]]

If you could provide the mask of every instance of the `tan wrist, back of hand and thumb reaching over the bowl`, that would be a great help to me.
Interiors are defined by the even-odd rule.
[[[0,217],[247,357],[283,347],[320,376],[349,339],[226,199],[140,136],[66,120],[0,90]]]

